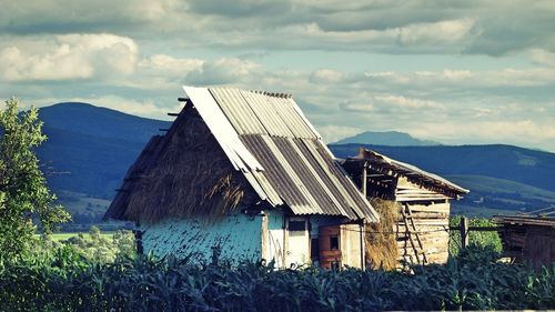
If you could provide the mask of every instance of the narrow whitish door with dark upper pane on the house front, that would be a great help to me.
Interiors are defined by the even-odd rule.
[[[309,224],[306,219],[286,220],[287,251],[285,265],[306,264],[310,262]]]

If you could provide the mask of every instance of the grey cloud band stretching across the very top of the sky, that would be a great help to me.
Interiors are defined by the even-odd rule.
[[[504,56],[555,52],[553,1],[0,0],[0,31],[110,32],[173,47]],[[186,36],[184,36],[186,34]]]

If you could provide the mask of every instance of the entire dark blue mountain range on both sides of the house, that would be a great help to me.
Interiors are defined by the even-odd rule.
[[[139,118],[85,103],[60,103],[42,108],[48,141],[38,149],[50,187],[60,194],[81,194],[108,203],[121,185],[128,168],[148,140],[170,122]],[[370,133],[370,134],[369,134]],[[364,134],[364,135],[363,135]],[[437,145],[401,132],[365,132],[382,145],[366,145],[391,158],[444,175],[471,193],[456,207],[484,209],[535,209],[555,204],[555,154],[511,145]],[[347,138],[349,140],[362,140]],[[395,144],[383,145],[392,139]],[[402,140],[401,140],[402,139]],[[385,140],[385,141],[384,141]],[[360,142],[331,144],[336,157],[355,155]],[[362,142],[364,143],[364,142]],[[62,197],[68,207],[78,200]],[[97,207],[98,201],[94,201]],[[91,210],[91,204],[88,204]],[[105,204],[104,204],[105,205]],[[99,215],[105,207],[99,208]]]

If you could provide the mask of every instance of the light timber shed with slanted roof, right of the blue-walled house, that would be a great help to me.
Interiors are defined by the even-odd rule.
[[[468,190],[364,148],[359,155],[346,159],[343,167],[369,200],[379,198],[396,203],[390,207],[398,210],[392,227],[400,261],[447,261],[450,201],[461,199]]]

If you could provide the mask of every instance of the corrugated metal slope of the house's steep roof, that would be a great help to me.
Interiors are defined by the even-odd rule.
[[[344,215],[351,220],[364,218],[377,221],[370,202],[341,171],[320,134],[291,97],[228,88],[206,90],[232,125],[232,130],[226,128],[226,131],[234,130],[239,135],[240,155],[252,155],[261,165],[256,169],[240,167],[261,199],[274,207],[286,204],[295,214]],[[191,100],[195,107],[204,105],[205,101],[201,99],[202,102],[196,103],[195,99]],[[209,127],[225,123],[216,113],[201,115],[203,119],[218,117],[216,122],[205,120]],[[212,132],[215,137],[230,137],[219,129]],[[234,140],[218,141],[234,150]]]

